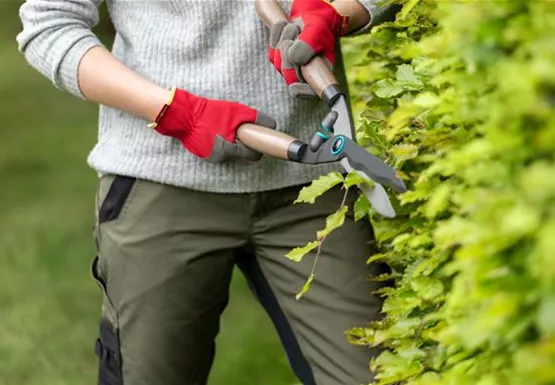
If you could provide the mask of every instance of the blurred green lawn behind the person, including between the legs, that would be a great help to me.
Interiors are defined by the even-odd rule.
[[[90,385],[101,297],[88,273],[96,175],[85,158],[97,108],[27,66],[21,2],[0,2],[0,385]],[[217,344],[211,385],[296,382],[240,274]]]

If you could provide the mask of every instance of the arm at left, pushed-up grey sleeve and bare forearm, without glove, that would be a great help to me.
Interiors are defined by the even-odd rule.
[[[93,34],[101,2],[26,0],[19,49],[59,89],[152,121],[170,91],[125,67]]]

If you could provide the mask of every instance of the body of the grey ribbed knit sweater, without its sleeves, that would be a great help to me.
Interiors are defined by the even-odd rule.
[[[280,0],[285,12],[288,1]],[[233,100],[272,116],[279,131],[308,141],[327,112],[319,99],[293,99],[268,60],[269,31],[254,0],[108,0],[114,55],[143,77],[200,96]],[[343,75],[341,65],[338,74]],[[340,80],[342,76],[339,77]],[[329,167],[266,159],[257,165],[209,165],[130,114],[101,107],[99,141],[89,157],[101,172],[120,172],[196,188],[240,191],[305,182]],[[202,174],[216,173],[210,181]],[[161,175],[163,174],[163,175]],[[278,174],[280,176],[278,176]],[[259,179],[258,181],[253,180]],[[293,178],[293,179],[295,179]],[[224,183],[235,184],[223,187]]]

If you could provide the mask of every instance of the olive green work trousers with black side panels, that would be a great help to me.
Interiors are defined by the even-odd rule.
[[[313,205],[293,205],[302,187],[215,194],[102,177],[91,267],[104,294],[98,383],[206,384],[235,266],[271,317],[303,385],[371,381],[369,361],[377,351],[350,344],[345,331],[379,317],[380,299],[371,293],[377,284],[368,280],[379,267],[366,264],[374,252],[372,228],[367,220],[355,222],[350,210],[324,242],[310,291],[296,300],[314,254],[302,262],[284,255],[314,240],[344,195],[337,187]]]

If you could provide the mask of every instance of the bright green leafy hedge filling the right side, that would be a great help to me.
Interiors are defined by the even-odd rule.
[[[349,339],[387,348],[376,383],[555,384],[555,3],[410,0],[345,55],[359,141],[410,186],[368,212],[395,285]]]

